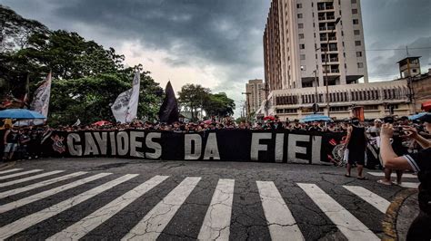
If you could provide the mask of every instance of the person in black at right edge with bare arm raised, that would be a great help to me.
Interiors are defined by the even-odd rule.
[[[425,122],[426,130],[431,131],[431,114],[420,119]],[[403,131],[408,138],[416,140],[424,149],[404,156],[396,155],[390,143],[394,128],[392,124],[385,123],[380,133],[380,155],[389,169],[411,169],[417,173],[420,181],[418,194],[420,213],[408,229],[406,240],[431,240],[429,230],[431,227],[431,141],[418,135],[415,128],[407,127]]]

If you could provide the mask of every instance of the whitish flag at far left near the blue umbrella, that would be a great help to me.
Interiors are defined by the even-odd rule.
[[[32,103],[30,104],[30,109],[37,111],[48,118],[49,109],[49,99],[51,97],[51,72],[45,79],[39,88],[35,91],[35,96]],[[45,119],[46,120],[46,119]],[[35,125],[42,124],[45,120],[34,120]]]

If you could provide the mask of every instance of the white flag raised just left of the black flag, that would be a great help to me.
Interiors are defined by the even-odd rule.
[[[120,93],[111,107],[116,121],[128,123],[136,118],[139,102],[139,75],[139,72],[135,73],[132,89]]]

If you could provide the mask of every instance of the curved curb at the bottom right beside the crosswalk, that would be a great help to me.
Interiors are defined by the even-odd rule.
[[[416,193],[417,190],[415,188],[408,188],[396,194],[396,198],[394,198],[389,207],[387,207],[385,217],[382,221],[384,232],[382,240],[398,240],[398,236],[396,235],[396,219],[398,218],[399,209],[406,201],[406,198]]]

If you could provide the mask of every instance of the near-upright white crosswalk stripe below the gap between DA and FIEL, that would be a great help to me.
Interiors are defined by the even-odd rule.
[[[229,240],[234,187],[234,179],[218,180],[198,240]]]

